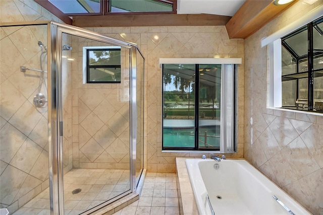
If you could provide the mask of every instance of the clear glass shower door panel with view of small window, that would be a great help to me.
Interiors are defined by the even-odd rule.
[[[86,214],[132,192],[130,48],[58,32],[59,195],[64,214]]]

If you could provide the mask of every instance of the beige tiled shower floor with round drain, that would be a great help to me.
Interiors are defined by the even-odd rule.
[[[77,188],[82,191],[72,194]],[[80,214],[129,189],[129,170],[72,169],[64,175],[64,214]],[[50,214],[49,188],[13,214]]]

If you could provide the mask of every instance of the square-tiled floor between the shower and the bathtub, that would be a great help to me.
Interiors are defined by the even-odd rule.
[[[146,173],[139,200],[114,213],[136,214],[179,214],[175,173]]]

